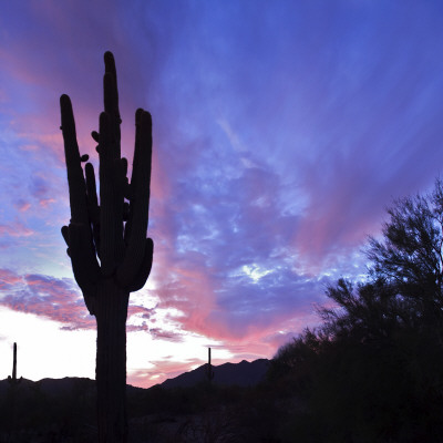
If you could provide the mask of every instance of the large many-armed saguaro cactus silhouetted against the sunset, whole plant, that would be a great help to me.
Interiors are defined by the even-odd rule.
[[[100,442],[126,442],[126,317],[131,291],[143,288],[151,272],[154,244],[146,238],[152,120],[142,109],[135,113],[135,150],[131,183],[127,159],[121,157],[117,78],[114,56],[104,54],[104,112],[100,114],[100,200],[94,168],[84,175],[75,135],[71,100],[60,97],[71,222],[62,227],[72,269],[85,305],[97,327],[96,369]]]

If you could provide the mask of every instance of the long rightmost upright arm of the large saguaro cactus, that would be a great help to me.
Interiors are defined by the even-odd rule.
[[[125,226],[126,250],[116,274],[117,281],[123,287],[131,286],[138,272],[145,274],[147,269],[151,269],[150,261],[152,262],[152,255],[150,259],[145,254],[150,209],[152,119],[148,112],[137,110],[135,120],[136,135],[130,185],[130,216]],[[141,270],[143,266],[147,266],[147,268]]]

